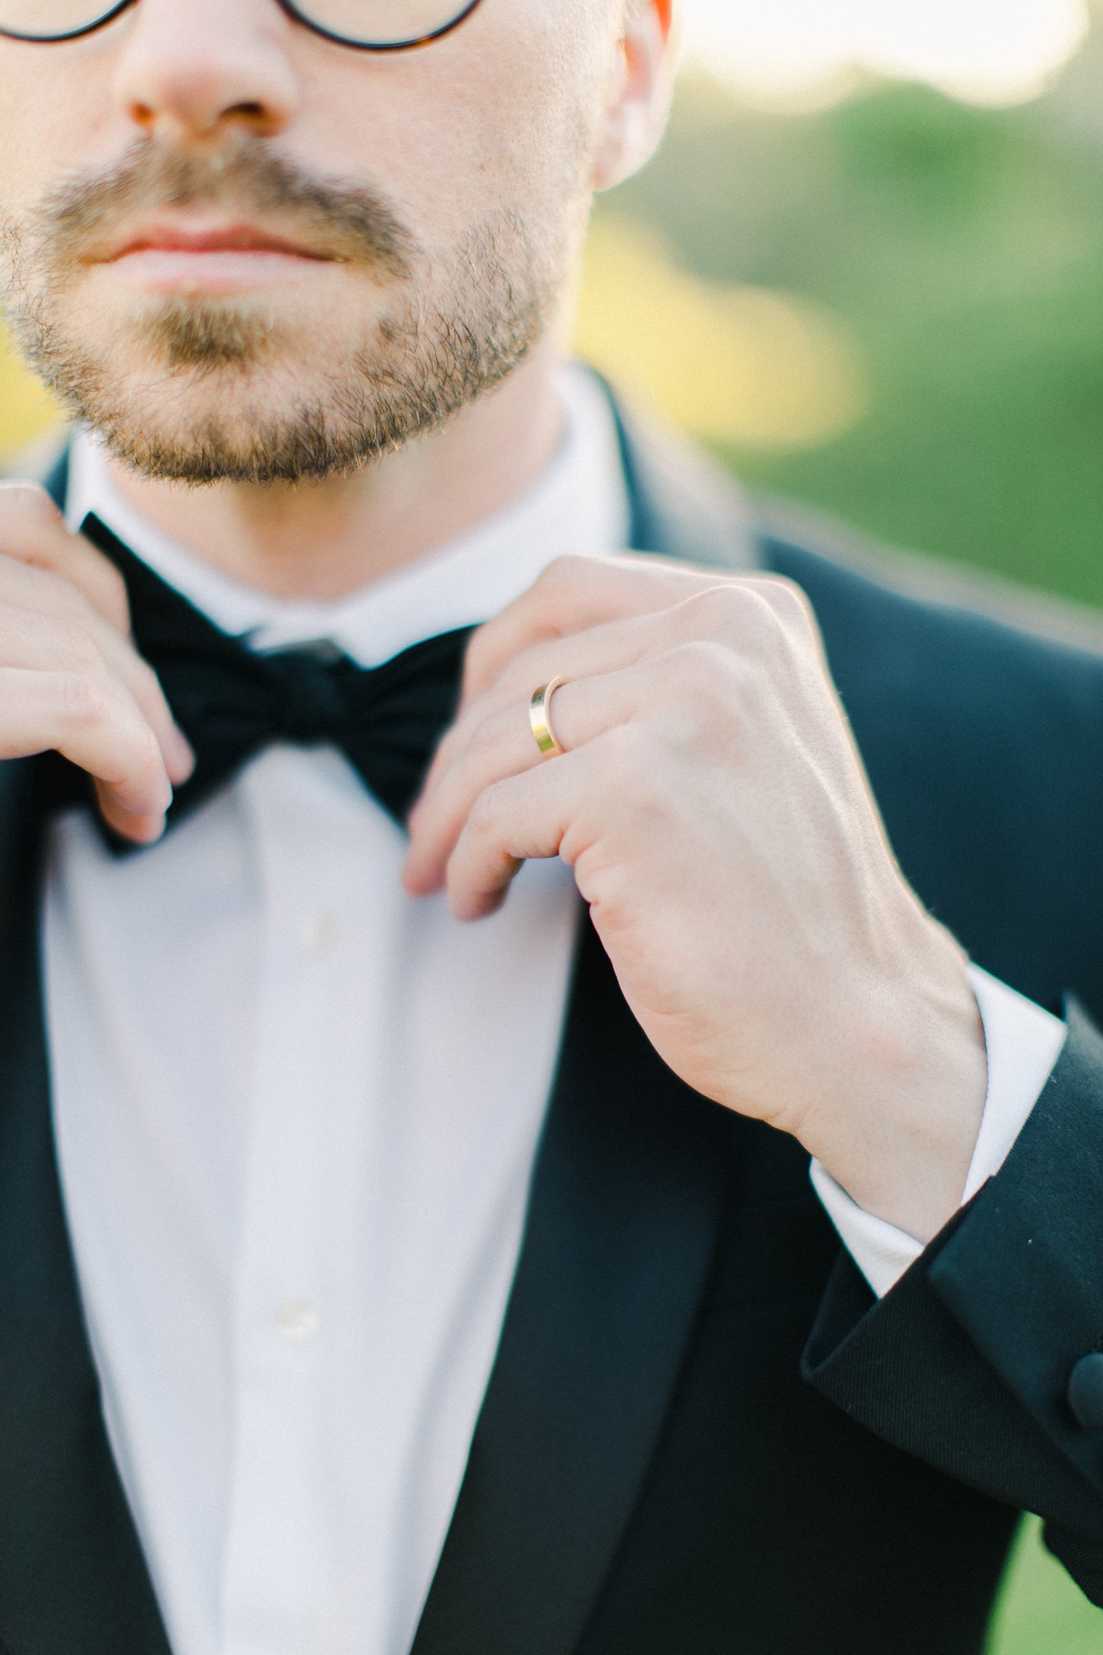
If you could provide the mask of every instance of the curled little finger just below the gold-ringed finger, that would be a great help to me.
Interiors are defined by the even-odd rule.
[[[448,861],[448,907],[475,920],[501,907],[511,880],[531,857],[559,856],[585,786],[582,753],[508,776],[486,788]]]

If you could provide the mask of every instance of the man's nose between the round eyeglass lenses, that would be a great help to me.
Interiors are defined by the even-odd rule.
[[[141,0],[112,93],[149,137],[275,137],[298,106],[288,15],[275,0]]]

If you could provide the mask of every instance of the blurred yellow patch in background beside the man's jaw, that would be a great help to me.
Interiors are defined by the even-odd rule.
[[[701,281],[623,220],[592,228],[575,339],[610,379],[708,442],[809,449],[867,405],[838,318],[792,295]]]

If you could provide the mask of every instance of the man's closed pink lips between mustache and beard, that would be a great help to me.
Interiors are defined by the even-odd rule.
[[[165,222],[127,232],[88,263],[147,293],[218,295],[303,280],[347,260],[256,225]]]

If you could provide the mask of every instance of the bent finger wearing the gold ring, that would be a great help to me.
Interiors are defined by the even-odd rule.
[[[559,745],[567,753],[577,751],[653,708],[661,693],[657,677],[653,665],[637,665],[562,684],[549,708]],[[514,700],[489,713],[410,816],[410,849],[402,875],[405,889],[412,895],[438,890],[480,794],[496,781],[547,763],[561,763],[561,758],[547,760],[537,748],[528,700]]]

